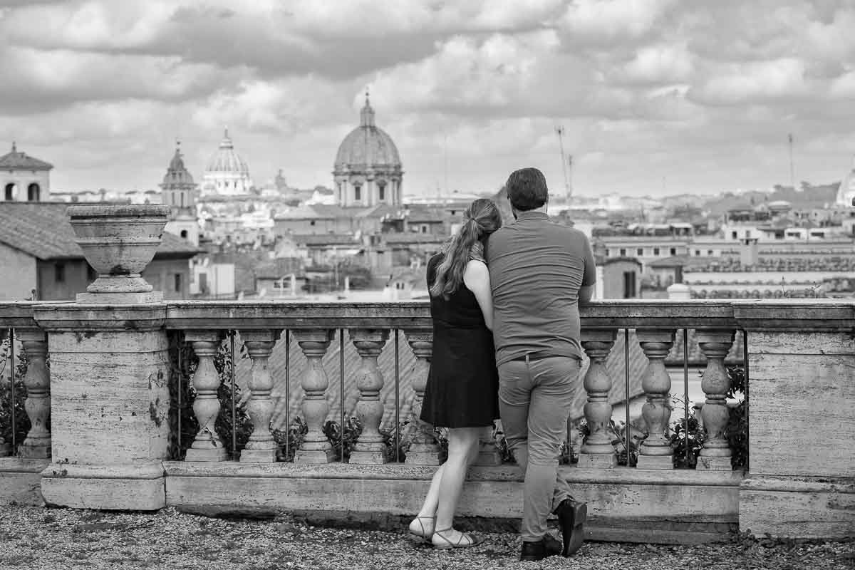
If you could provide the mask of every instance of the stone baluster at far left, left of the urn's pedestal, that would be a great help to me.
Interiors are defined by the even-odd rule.
[[[38,329],[23,329],[17,331],[17,334],[28,361],[27,374],[24,376],[24,385],[27,386],[24,408],[27,409],[31,426],[18,455],[44,459],[50,457],[50,371],[45,361],[48,338],[44,331]]]

